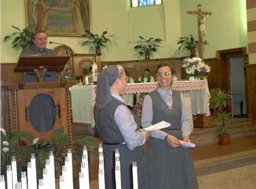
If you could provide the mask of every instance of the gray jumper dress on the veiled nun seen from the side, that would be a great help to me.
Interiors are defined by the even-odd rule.
[[[132,162],[137,162],[138,166],[138,187],[148,189],[147,160],[145,159],[145,149],[143,146],[130,150],[125,142],[118,125],[114,121],[114,113],[118,105],[125,105],[118,99],[113,98],[104,108],[94,107],[94,119],[100,138],[103,140],[104,168],[105,168],[105,188],[115,189],[115,149],[120,152],[121,182],[122,189],[132,187]]]

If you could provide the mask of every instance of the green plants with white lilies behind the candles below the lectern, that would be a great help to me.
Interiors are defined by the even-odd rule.
[[[68,147],[68,136],[62,127],[54,132],[50,140],[34,138],[25,131],[3,132],[1,136],[3,141],[1,142],[1,173],[6,173],[6,166],[11,164],[12,156],[16,156],[17,170],[21,172],[27,166],[27,162],[30,161],[30,154],[34,153],[36,156],[36,175],[41,177],[45,160],[49,157],[49,151],[53,151],[55,175],[56,177],[61,175],[61,165],[65,160]],[[72,157],[74,160],[81,160],[83,146],[87,146],[90,151],[98,147],[98,142],[92,136],[84,136],[72,141]]]

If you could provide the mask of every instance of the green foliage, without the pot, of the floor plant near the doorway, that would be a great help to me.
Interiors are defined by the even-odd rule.
[[[214,101],[214,110],[217,110],[217,118],[220,121],[219,129],[220,134],[227,134],[226,123],[229,121],[230,114],[226,112],[226,105],[228,105],[228,101],[231,99],[231,95],[227,92],[220,90],[218,88],[217,94],[215,96]]]

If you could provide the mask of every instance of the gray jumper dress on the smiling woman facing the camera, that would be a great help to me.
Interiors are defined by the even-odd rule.
[[[162,129],[182,140],[181,100],[180,92],[173,90],[173,105],[170,109],[160,97],[157,90],[149,93],[153,105],[153,121],[171,123],[170,127]],[[184,147],[171,147],[166,141],[149,138],[149,185],[152,189],[193,189],[198,188],[198,180],[193,166],[191,152]]]

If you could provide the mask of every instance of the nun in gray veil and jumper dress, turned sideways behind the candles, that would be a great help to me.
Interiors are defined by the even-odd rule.
[[[149,132],[139,129],[136,116],[120,97],[125,90],[127,77],[122,66],[107,66],[98,75],[94,119],[98,134],[103,140],[105,187],[115,186],[115,149],[119,149],[122,189],[131,189],[132,162],[138,166],[138,188],[147,186],[147,159],[143,144]]]

